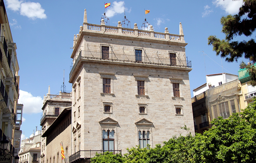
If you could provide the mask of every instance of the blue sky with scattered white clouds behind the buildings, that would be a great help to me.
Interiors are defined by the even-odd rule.
[[[126,18],[141,27],[144,21],[144,9],[150,10],[147,21],[154,31],[179,34],[179,22],[182,23],[184,38],[188,45],[186,56],[192,62],[193,70],[189,73],[190,89],[206,83],[206,74],[237,74],[237,63],[227,63],[216,56],[207,44],[210,35],[224,39],[221,33],[220,19],[228,14],[236,14],[241,1],[201,0],[201,1],[106,1],[111,6],[106,8],[110,26],[117,26],[123,20],[123,5]],[[83,24],[84,9],[87,21],[100,24],[104,12],[104,1],[42,1],[42,0],[5,0],[7,16],[11,26],[13,41],[17,44],[19,63],[20,96],[18,103],[23,103],[22,138],[29,137],[35,126],[40,129],[43,95],[51,87],[51,94],[58,94],[63,83],[65,69],[66,90],[71,90],[69,72],[72,59],[73,38]],[[236,37],[235,39],[248,39]],[[205,56],[205,62],[203,52]],[[222,62],[222,63],[221,63]],[[206,65],[206,71],[205,71]]]

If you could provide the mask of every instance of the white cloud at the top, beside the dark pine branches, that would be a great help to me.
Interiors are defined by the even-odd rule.
[[[214,0],[213,4],[221,9],[225,10],[228,14],[234,15],[239,12],[239,8],[242,6],[243,1],[232,1],[232,0]]]

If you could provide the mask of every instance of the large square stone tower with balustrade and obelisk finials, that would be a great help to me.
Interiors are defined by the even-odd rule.
[[[89,24],[74,36],[72,69],[72,153],[69,162],[86,162],[96,152],[126,153],[154,147],[193,128],[182,24],[179,34]],[[164,133],[164,134],[159,134]],[[58,151],[60,154],[60,151]],[[48,153],[48,152],[47,152]],[[54,152],[45,159],[57,156]]]

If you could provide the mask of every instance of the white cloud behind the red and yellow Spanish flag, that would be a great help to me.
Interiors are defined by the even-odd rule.
[[[117,14],[122,14],[124,12],[124,5],[124,1],[114,1],[109,7],[107,7],[106,16],[111,18],[112,16],[115,16]],[[128,10],[127,8],[125,8],[125,11],[130,12],[131,9]]]

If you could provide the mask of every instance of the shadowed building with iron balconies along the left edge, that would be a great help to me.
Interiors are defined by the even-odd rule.
[[[16,128],[17,103],[19,95],[19,65],[4,1],[0,1],[0,129],[8,148],[0,158],[11,154],[13,159],[18,155],[21,131]],[[2,135],[1,135],[2,136]]]

